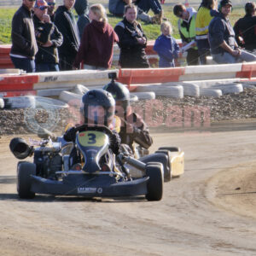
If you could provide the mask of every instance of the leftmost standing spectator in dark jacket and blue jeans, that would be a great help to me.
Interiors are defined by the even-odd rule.
[[[12,47],[10,57],[15,68],[20,68],[26,73],[35,72],[35,55],[38,52],[38,44],[35,37],[35,29],[32,20],[32,8],[35,2],[22,0],[12,20]]]

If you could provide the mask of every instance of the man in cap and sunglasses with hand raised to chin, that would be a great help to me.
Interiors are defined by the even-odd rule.
[[[46,1],[36,1],[33,20],[38,43],[37,72],[60,71],[57,48],[61,46],[63,37],[57,27],[50,21],[47,9]]]

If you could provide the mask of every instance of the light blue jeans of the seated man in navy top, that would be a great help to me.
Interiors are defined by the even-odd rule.
[[[256,61],[256,55],[248,53],[246,50],[242,49],[239,57],[234,57],[233,55],[230,55],[230,53],[224,52],[224,54],[212,55],[212,59],[218,64],[240,63],[242,61]]]

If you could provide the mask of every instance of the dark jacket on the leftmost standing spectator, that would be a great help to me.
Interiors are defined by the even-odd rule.
[[[13,17],[11,38],[11,54],[34,59],[38,52],[38,45],[35,37],[32,12],[26,9],[25,5],[22,5]]]

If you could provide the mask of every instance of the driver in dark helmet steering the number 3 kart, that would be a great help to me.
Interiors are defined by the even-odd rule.
[[[67,142],[74,143],[77,131],[94,130],[97,125],[104,125],[112,130],[114,111],[115,102],[113,96],[108,91],[102,89],[87,91],[82,97],[80,106],[80,124],[82,125],[68,129],[63,135],[64,139]],[[88,124],[88,126],[84,128],[84,124]],[[113,154],[119,154],[120,137],[116,131],[113,131],[113,135],[109,136],[109,141],[109,148],[112,150]],[[71,166],[81,162],[76,148],[73,148],[73,152],[70,156]]]

